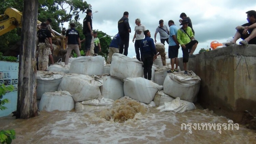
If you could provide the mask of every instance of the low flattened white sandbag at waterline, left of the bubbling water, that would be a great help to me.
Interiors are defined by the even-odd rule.
[[[82,104],[82,102],[76,102],[75,103],[75,110],[76,111],[95,111],[95,110],[105,110],[105,109],[110,109],[112,106],[96,106],[96,105],[87,105],[87,104]]]

